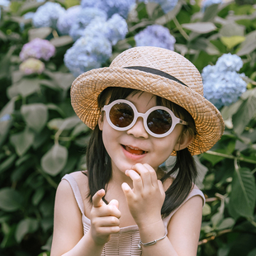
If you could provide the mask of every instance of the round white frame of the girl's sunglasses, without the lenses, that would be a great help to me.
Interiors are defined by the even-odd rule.
[[[126,126],[126,127],[117,127],[115,126],[111,120],[110,120],[110,110],[111,110],[111,107],[113,107],[114,105],[116,105],[117,103],[126,103],[127,105],[129,105],[132,110],[134,111],[134,119],[133,121],[130,123],[129,126]],[[149,116],[149,114],[155,110],[158,110],[158,109],[162,109],[164,111],[167,111],[170,116],[172,117],[172,120],[173,120],[173,123],[172,123],[172,126],[171,128],[165,132],[164,134],[155,134],[154,132],[152,132],[151,130],[149,130],[149,127],[147,125],[147,118]],[[102,111],[105,111],[106,112],[106,116],[107,116],[107,122],[108,124],[115,130],[129,130],[131,127],[133,127],[138,119],[138,117],[142,117],[143,118],[143,124],[144,124],[144,128],[145,130],[147,131],[147,133],[155,138],[164,138],[166,137],[167,135],[169,135],[175,128],[176,125],[180,124],[180,125],[184,125],[184,126],[187,126],[187,121],[183,121],[181,119],[179,119],[178,117],[174,116],[173,114],[173,111],[171,111],[168,107],[164,107],[164,106],[155,106],[155,107],[151,107],[149,108],[148,111],[144,113],[140,113],[139,111],[137,111],[137,108],[135,107],[135,105],[132,103],[132,102],[129,102],[127,100],[116,100],[114,102],[111,102],[110,104],[108,105],[105,105],[104,107],[102,107]]]

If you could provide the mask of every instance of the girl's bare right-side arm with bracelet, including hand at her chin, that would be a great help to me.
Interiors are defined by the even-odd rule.
[[[164,202],[162,183],[157,181],[154,169],[148,164],[135,164],[134,170],[128,170],[126,175],[133,180],[134,188],[130,189],[126,183],[122,188],[130,213],[139,226],[141,241],[148,243],[162,238],[165,234],[160,213]],[[142,245],[142,254],[196,256],[201,228],[201,209],[201,197],[192,197],[185,202],[170,220],[168,236],[156,244]]]

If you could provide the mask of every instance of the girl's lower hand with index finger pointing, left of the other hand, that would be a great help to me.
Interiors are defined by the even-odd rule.
[[[96,244],[107,243],[111,234],[120,230],[121,212],[118,210],[118,201],[113,199],[107,205],[102,200],[104,196],[105,191],[101,189],[92,197],[91,235]]]

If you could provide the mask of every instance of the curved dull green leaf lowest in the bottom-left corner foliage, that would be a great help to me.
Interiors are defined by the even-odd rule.
[[[17,225],[17,230],[15,232],[15,238],[18,243],[21,243],[24,235],[28,233],[33,233],[38,229],[38,221],[35,219],[25,219],[21,220]]]

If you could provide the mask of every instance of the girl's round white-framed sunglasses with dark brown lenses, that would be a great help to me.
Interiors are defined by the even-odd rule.
[[[174,116],[173,111],[164,106],[151,107],[143,114],[133,103],[116,100],[102,107],[102,111],[106,112],[107,122],[115,130],[129,130],[141,116],[145,130],[156,138],[169,135],[177,124],[187,125],[187,121]]]

